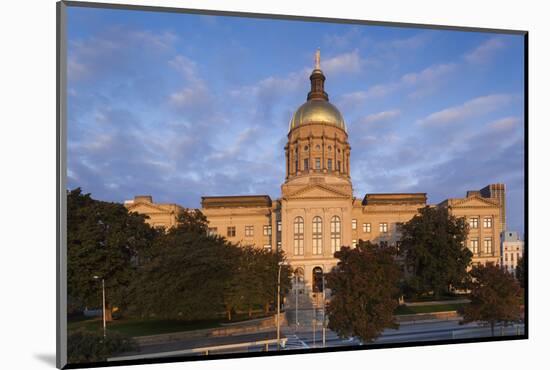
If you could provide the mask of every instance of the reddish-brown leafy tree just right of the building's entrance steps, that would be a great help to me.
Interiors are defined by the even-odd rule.
[[[338,265],[326,279],[331,290],[327,313],[328,327],[340,337],[356,336],[371,342],[384,328],[398,327],[393,316],[401,279],[396,253],[393,247],[369,241],[335,253]]]

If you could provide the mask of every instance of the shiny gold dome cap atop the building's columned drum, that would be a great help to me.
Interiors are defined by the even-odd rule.
[[[288,130],[315,123],[336,126],[346,131],[346,124],[340,111],[334,105],[322,99],[311,99],[302,104],[292,115]]]

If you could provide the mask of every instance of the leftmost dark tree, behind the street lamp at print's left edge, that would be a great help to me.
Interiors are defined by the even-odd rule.
[[[128,213],[119,203],[102,202],[80,188],[67,192],[67,291],[81,307],[101,306],[105,280],[106,316],[127,306],[135,279],[136,258],[146,250],[155,230],[145,217]]]

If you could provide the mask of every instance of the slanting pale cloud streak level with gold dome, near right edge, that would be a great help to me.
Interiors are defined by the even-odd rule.
[[[462,122],[465,119],[493,112],[512,101],[511,95],[495,94],[481,96],[464,104],[432,113],[417,121],[422,126],[437,126]]]

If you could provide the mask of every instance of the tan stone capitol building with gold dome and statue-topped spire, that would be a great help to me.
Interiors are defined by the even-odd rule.
[[[329,101],[319,59],[317,53],[307,100],[290,119],[281,198],[205,194],[200,209],[210,232],[230,242],[283,250],[296,275],[313,290],[316,277],[337,264],[334,253],[342,246],[354,247],[359,240],[398,246],[398,225],[428,205],[426,193],[354,197],[346,123]],[[154,203],[151,196],[136,196],[125,205],[148,215],[152,226],[166,228],[176,224],[181,209]],[[474,264],[500,262],[500,235],[506,230],[504,184],[469,190],[463,198],[432,206],[447,207],[452,215],[466,218]]]

